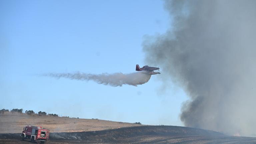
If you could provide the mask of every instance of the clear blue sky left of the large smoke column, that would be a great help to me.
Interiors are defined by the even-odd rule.
[[[138,87],[38,76],[131,73],[147,65],[143,37],[170,27],[163,7],[160,0],[1,0],[0,109],[183,126],[180,107],[188,98],[172,84],[159,92],[159,75]]]

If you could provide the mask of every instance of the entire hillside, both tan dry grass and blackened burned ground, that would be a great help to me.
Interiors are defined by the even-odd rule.
[[[27,144],[20,133],[25,125],[50,129],[47,144],[254,144],[256,138],[227,136],[219,132],[180,126],[145,126],[97,119],[77,119],[26,114],[0,114],[0,143]]]

